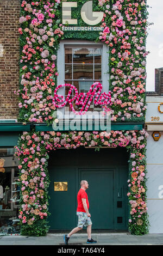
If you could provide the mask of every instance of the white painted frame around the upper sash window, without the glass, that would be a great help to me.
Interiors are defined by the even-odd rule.
[[[60,40],[59,50],[57,53],[57,69],[58,69],[58,77],[57,77],[57,86],[65,83],[65,47],[101,47],[102,48],[102,86],[103,92],[109,92],[109,48],[107,45],[102,42],[96,43],[95,41],[89,40]],[[59,94],[65,97],[65,87],[59,89]],[[61,116],[60,116],[61,113]],[[72,112],[73,113],[73,112]],[[66,119],[65,108],[57,109],[57,118]],[[85,114],[87,117],[87,115]],[[89,114],[90,117],[90,114]],[[93,116],[94,117],[94,116]],[[91,117],[90,117],[91,118]],[[96,119],[96,117],[94,117]]]

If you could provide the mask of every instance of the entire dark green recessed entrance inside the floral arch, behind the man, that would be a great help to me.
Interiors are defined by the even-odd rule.
[[[58,149],[49,154],[49,230],[77,226],[77,193],[87,180],[92,229],[128,229],[128,153],[126,150]],[[54,191],[54,182],[67,182],[67,191]]]

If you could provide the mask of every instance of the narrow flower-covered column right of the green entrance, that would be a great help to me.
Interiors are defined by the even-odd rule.
[[[133,235],[148,234],[148,214],[146,203],[146,137],[145,131],[134,132],[135,138],[131,139],[130,147],[130,179],[128,186],[130,218],[129,230]],[[136,138],[136,135],[139,136]]]

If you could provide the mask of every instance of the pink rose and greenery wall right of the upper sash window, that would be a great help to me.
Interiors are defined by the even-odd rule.
[[[146,1],[99,0],[104,11],[99,40],[109,46],[111,121],[144,117],[146,112]],[[136,107],[136,108],[135,108]],[[121,112],[121,113],[120,113]],[[118,114],[120,113],[120,114]]]

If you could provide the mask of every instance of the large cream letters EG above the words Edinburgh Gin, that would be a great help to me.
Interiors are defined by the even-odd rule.
[[[88,25],[97,25],[103,19],[103,12],[92,11],[92,2],[83,4],[80,11],[82,20]],[[71,19],[71,8],[77,8],[77,2],[62,2],[62,24],[78,24],[78,20]]]

